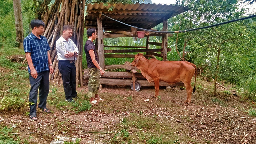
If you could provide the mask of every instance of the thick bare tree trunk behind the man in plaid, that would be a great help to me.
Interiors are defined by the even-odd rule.
[[[15,17],[16,41],[19,43],[19,48],[23,49],[24,34],[20,0],[13,0],[13,9]]]

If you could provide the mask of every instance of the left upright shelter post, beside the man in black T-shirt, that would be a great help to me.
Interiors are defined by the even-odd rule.
[[[97,24],[98,24],[98,56],[99,56],[99,65],[102,69],[105,69],[105,57],[104,57],[104,44],[103,44],[103,30],[102,30],[102,19],[101,14],[97,18]]]

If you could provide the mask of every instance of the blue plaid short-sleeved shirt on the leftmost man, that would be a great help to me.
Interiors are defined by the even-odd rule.
[[[44,36],[37,38],[33,33],[29,34],[23,41],[24,51],[31,53],[32,63],[37,73],[49,70],[48,51],[51,49]],[[30,68],[28,67],[30,73]]]

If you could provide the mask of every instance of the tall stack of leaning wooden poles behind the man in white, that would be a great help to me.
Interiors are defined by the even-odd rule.
[[[83,53],[83,36],[84,36],[84,9],[86,0],[55,0],[54,4],[48,9],[48,5],[44,5],[44,12],[41,15],[42,21],[45,23],[44,35],[48,39],[51,47],[50,55],[53,63],[54,72],[50,75],[50,80],[59,84],[61,82],[61,74],[58,69],[58,60],[56,55],[55,42],[60,38],[64,25],[72,25],[74,41],[79,50],[76,60],[76,86],[83,86],[82,81],[82,53]]]

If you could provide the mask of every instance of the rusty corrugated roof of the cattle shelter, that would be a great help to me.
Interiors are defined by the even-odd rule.
[[[122,3],[113,5],[113,10],[108,11],[110,6],[104,6],[103,3],[88,4],[87,15],[85,16],[85,28],[97,28],[97,17],[99,12],[108,17],[121,21],[123,23],[144,28],[151,29],[163,22],[163,19],[169,19],[182,12],[188,10],[188,7],[178,5],[162,5],[162,4],[126,4]],[[116,22],[102,15],[102,27],[106,31],[113,30],[131,30],[129,26]]]

